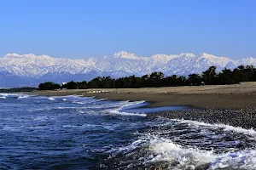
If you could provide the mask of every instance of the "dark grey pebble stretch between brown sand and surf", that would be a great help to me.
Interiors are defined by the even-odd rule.
[[[149,117],[184,119],[207,123],[222,123],[233,127],[256,128],[256,107],[245,109],[190,109],[149,113]]]

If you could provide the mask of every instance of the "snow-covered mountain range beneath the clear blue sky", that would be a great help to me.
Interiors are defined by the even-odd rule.
[[[166,76],[201,73],[215,65],[218,71],[238,65],[256,65],[256,59],[232,60],[212,54],[155,54],[150,57],[121,51],[102,59],[63,59],[48,55],[6,54],[0,58],[0,87],[37,86],[39,82],[88,81],[93,77],[143,76],[162,71]]]

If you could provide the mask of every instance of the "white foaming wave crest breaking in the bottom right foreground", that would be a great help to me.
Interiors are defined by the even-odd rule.
[[[256,150],[238,150],[227,153],[214,153],[214,150],[201,150],[196,147],[183,146],[171,139],[164,139],[146,134],[131,144],[107,151],[114,156],[134,157],[134,161],[123,160],[127,167],[149,165],[163,169],[256,169]],[[139,160],[137,160],[139,158]],[[143,161],[143,162],[137,162]],[[130,162],[132,162],[130,164]],[[128,168],[129,169],[129,168]]]

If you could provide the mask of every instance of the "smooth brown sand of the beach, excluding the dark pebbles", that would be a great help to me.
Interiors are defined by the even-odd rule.
[[[109,88],[38,91],[33,94],[96,96],[111,100],[146,100],[148,107],[188,105],[197,108],[243,109],[256,105],[256,82],[235,85],[168,88]]]

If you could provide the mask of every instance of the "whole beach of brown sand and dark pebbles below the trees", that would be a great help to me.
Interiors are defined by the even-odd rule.
[[[98,93],[102,91],[104,93]],[[189,106],[191,110],[160,111],[148,113],[148,116],[256,128],[256,82],[225,86],[40,91],[32,94],[76,94],[109,100],[145,100],[149,103],[146,107]]]

